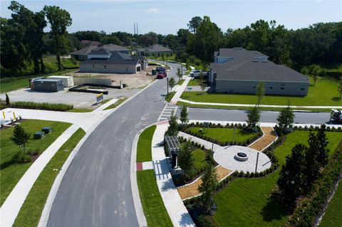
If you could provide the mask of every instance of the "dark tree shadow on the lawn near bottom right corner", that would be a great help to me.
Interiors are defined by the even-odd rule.
[[[276,201],[269,199],[266,206],[264,206],[260,212],[262,220],[266,222],[271,222],[274,220],[281,220],[288,213],[282,208]]]

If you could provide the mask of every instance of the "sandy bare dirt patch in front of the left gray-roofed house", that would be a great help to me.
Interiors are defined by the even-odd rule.
[[[113,74],[113,73],[68,73],[76,78],[102,78],[112,80],[113,86],[118,86],[121,83],[130,88],[144,88],[146,85],[155,80],[155,75],[151,75],[152,67],[149,70],[142,70],[136,74]]]

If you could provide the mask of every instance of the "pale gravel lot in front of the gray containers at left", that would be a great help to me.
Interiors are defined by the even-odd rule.
[[[138,93],[140,89],[114,89],[105,88],[108,90],[108,95],[103,95],[107,98],[131,97]],[[96,105],[96,95],[94,93],[78,93],[69,92],[68,89],[62,90],[58,93],[44,93],[33,91],[30,88],[22,88],[8,93],[11,102],[49,102],[49,103],[64,103],[73,105],[74,108],[93,108]],[[2,100],[5,99],[5,94],[1,94]]]

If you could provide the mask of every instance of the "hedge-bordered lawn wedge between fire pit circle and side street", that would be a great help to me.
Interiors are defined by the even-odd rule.
[[[202,129],[202,132],[199,132]],[[190,127],[191,132],[198,134],[203,134],[212,139],[216,139],[219,142],[232,142],[234,137],[234,129],[231,128],[202,128],[202,127]],[[245,132],[242,129],[235,130],[235,142],[245,142],[247,139],[251,139],[257,133],[255,132]]]

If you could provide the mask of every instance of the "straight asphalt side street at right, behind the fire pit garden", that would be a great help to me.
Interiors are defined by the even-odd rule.
[[[178,108],[178,114],[180,108]],[[261,112],[260,122],[276,122],[279,112]],[[295,112],[294,122],[297,124],[329,124],[329,112]],[[245,121],[247,119],[246,110],[222,110],[189,108],[190,120],[222,120],[222,121]]]

